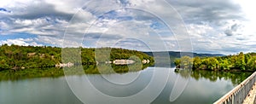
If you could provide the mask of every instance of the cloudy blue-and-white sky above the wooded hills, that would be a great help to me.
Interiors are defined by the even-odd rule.
[[[256,52],[254,4],[249,0],[1,0],[0,44],[141,51],[192,48],[196,53],[224,55]]]

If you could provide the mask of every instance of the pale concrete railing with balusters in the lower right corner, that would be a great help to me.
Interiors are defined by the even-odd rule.
[[[253,88],[255,84],[256,72],[237,85],[233,90],[230,90],[226,95],[221,97],[214,104],[241,104],[247,97],[249,91]]]

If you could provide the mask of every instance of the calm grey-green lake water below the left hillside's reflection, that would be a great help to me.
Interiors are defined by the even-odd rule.
[[[166,74],[166,72],[169,72],[167,79],[161,76],[161,74]],[[84,102],[90,104],[92,102],[151,102],[154,104],[207,104],[217,101],[218,98],[232,90],[250,74],[249,72],[209,71],[194,71],[189,74],[183,74],[182,72],[175,72],[174,68],[148,67],[140,72],[108,74],[104,76],[88,74],[68,76],[67,78],[8,80],[0,82],[0,103],[80,104]],[[186,87],[183,93],[175,101],[169,101],[172,88],[178,76],[189,80],[189,82],[185,84]],[[163,83],[165,81],[166,84]],[[165,84],[165,86],[161,84]],[[91,86],[93,88],[90,88]],[[161,88],[163,90],[160,90]],[[104,95],[108,96],[108,99],[104,98]],[[154,98],[154,95],[157,95],[157,97],[151,99]],[[125,99],[125,97],[131,98]]]

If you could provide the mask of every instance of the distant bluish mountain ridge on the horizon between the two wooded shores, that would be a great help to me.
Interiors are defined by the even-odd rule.
[[[193,55],[193,57],[195,56],[200,56],[200,57],[212,57],[212,56],[224,56],[224,55],[221,55],[221,54],[197,54],[197,53],[190,53],[190,52],[175,52],[175,51],[167,51],[164,52],[164,51],[157,51],[157,52],[143,52],[147,55],[150,55],[150,56],[154,56],[154,55],[165,55],[168,53],[170,55],[170,57],[180,57],[180,55],[188,55],[191,57],[191,55]]]

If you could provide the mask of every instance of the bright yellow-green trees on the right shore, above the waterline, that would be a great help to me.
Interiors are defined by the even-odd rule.
[[[256,71],[256,53],[225,55],[216,57],[191,58],[183,56],[176,59],[177,68],[192,68],[193,70],[214,71]]]

